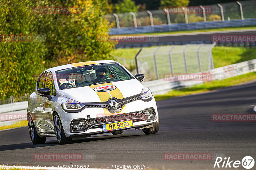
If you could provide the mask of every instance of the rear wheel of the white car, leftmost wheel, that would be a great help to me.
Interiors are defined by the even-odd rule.
[[[40,137],[36,131],[36,126],[32,120],[32,117],[28,115],[28,132],[31,141],[33,142],[34,145],[36,144],[44,144],[46,138],[45,137]]]

